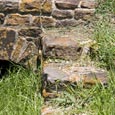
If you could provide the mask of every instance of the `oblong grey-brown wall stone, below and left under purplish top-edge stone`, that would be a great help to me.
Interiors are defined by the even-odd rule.
[[[57,19],[72,18],[73,12],[71,10],[54,10],[52,16]]]

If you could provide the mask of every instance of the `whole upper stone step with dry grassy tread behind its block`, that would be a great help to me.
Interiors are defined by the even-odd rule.
[[[43,34],[43,55],[47,58],[78,60],[88,53],[93,29],[86,27],[47,29]]]

